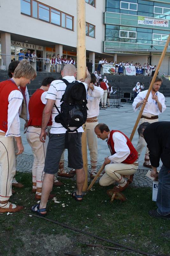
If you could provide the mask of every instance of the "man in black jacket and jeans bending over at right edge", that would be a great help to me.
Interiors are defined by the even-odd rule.
[[[147,122],[140,124],[138,133],[143,137],[149,149],[152,165],[151,177],[158,177],[158,195],[156,204],[158,209],[149,211],[152,217],[170,220],[170,122]],[[159,161],[162,167],[157,172]]]

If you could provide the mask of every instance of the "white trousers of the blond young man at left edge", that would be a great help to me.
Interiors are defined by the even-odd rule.
[[[16,172],[14,137],[0,135],[0,201],[12,195],[12,179]]]

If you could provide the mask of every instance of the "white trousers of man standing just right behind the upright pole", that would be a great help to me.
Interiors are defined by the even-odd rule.
[[[92,169],[96,169],[98,150],[97,150],[97,135],[95,133],[95,126],[98,122],[88,123],[86,122],[86,131],[87,131],[87,144],[90,151],[90,160]]]

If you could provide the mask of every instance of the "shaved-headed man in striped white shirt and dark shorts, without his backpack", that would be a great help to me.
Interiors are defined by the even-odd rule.
[[[61,76],[66,79],[69,83],[75,81],[76,68],[74,65],[67,64],[61,71]],[[86,91],[91,81],[91,76],[88,69],[86,68],[86,79],[84,81],[84,86]],[[55,116],[59,114],[57,108],[60,110],[60,105],[62,103],[61,98],[66,90],[66,84],[62,80],[54,80],[47,92],[47,103],[43,111],[41,134],[39,136],[41,142],[45,142],[46,139],[46,126],[49,121],[52,112],[52,127],[49,134],[49,142],[46,151],[46,160],[44,167],[44,180],[42,186],[42,195],[40,204],[36,204],[32,207],[32,211],[38,213],[39,215],[46,214],[46,204],[48,196],[53,188],[54,174],[57,173],[59,169],[59,163],[61,155],[65,148],[65,134],[66,129],[60,123],[55,122]],[[57,108],[54,107],[54,104]],[[62,114],[62,113],[61,113]],[[69,127],[70,130],[76,129],[76,127]],[[68,167],[74,168],[76,170],[76,182],[77,190],[72,193],[72,196],[76,201],[82,200],[82,188],[85,180],[85,172],[83,169],[82,153],[81,153],[81,135],[83,129],[82,127],[77,129],[77,132],[68,133]]]

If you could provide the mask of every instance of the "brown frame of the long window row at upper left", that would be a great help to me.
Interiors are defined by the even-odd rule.
[[[27,2],[27,0],[22,0],[22,1]],[[33,14],[33,10],[32,10],[32,1],[37,2],[37,18],[35,18],[35,17],[32,16],[32,14]],[[22,15],[26,15],[26,16],[29,16],[29,17],[31,17],[31,18],[33,18],[33,19],[41,20],[41,21],[43,21],[43,22],[50,23],[50,24],[55,25],[55,26],[58,26],[58,27],[60,27],[60,28],[65,28],[65,29],[74,31],[74,16],[72,16],[72,15],[66,13],[66,12],[62,12],[62,11],[60,11],[60,10],[54,8],[54,7],[51,7],[51,6],[47,5],[47,4],[43,4],[43,3],[39,2],[39,1],[36,1],[36,0],[31,0],[31,3],[30,3],[30,4],[31,4],[31,6],[30,6],[30,7],[31,7],[31,15],[28,15],[28,14],[26,14],[26,13],[24,13],[24,12],[21,12]],[[46,6],[46,7],[49,8],[49,21],[42,20],[42,19],[39,18],[39,4],[44,5],[44,6]],[[46,10],[47,10],[47,9],[46,9]],[[51,11],[51,10],[60,12],[60,25],[57,25],[57,24],[51,22],[51,12],[53,12],[53,11]],[[53,12],[53,13],[54,13],[54,12]],[[65,14],[65,27],[62,26],[62,13]],[[66,17],[67,17],[67,16],[69,16],[69,17],[72,18],[72,29],[67,28],[67,22],[66,22]],[[91,24],[91,25],[92,25],[92,24]]]

